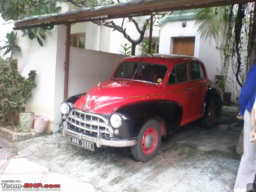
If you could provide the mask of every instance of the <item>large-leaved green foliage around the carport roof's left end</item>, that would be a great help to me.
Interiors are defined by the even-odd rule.
[[[57,1],[57,0],[56,0]],[[55,14],[60,12],[61,6],[56,7],[55,0],[1,0],[0,1],[0,13],[5,21],[8,20],[19,20],[24,17],[37,16],[44,14]],[[32,28],[23,30],[23,35],[28,35],[29,39],[36,39],[40,46],[44,46],[43,40],[45,40],[45,32],[49,32],[54,27],[53,23],[47,23],[45,26],[40,28]],[[8,33],[9,34],[9,33]],[[21,51],[16,42],[16,33],[11,32],[7,34],[6,38],[8,41],[7,45],[0,48],[7,49],[4,53],[6,55],[8,52]]]

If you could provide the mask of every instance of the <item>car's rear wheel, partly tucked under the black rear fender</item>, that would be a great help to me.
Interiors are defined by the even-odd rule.
[[[204,129],[210,129],[215,123],[216,118],[216,105],[213,100],[210,101],[208,107],[206,108],[206,116],[200,119],[201,126]]]

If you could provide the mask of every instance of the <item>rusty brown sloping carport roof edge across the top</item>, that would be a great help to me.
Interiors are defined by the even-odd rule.
[[[14,22],[16,29],[37,27],[53,22],[54,25],[92,20],[150,15],[152,13],[249,3],[254,0],[133,0],[116,5],[94,8],[79,8],[65,13],[31,16]]]

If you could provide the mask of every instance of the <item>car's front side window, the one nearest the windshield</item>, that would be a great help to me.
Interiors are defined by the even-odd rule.
[[[172,68],[171,76],[169,77],[168,84],[182,83],[188,81],[188,68],[187,63],[180,63]]]

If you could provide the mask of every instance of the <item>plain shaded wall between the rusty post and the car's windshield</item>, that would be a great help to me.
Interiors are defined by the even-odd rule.
[[[87,92],[98,82],[110,79],[126,56],[70,47],[68,97]]]

